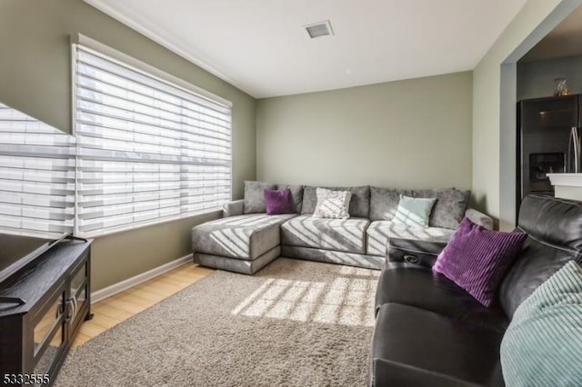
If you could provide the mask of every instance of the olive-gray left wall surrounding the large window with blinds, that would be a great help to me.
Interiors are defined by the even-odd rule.
[[[0,102],[71,133],[69,35],[81,33],[233,103],[233,190],[256,177],[255,99],[81,0],[0,1]],[[99,237],[93,290],[190,253],[190,228],[217,213]]]

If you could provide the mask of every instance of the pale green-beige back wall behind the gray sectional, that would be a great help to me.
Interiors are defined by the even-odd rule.
[[[258,100],[257,177],[471,187],[471,73]]]

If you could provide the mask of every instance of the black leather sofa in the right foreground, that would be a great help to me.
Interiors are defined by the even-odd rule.
[[[528,237],[487,308],[430,267],[444,244],[390,241],[376,291],[371,386],[503,386],[499,345],[517,306],[582,256],[582,203],[530,195]],[[540,353],[540,356],[543,354]]]

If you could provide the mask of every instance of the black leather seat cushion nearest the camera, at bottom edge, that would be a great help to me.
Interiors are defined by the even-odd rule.
[[[504,385],[499,365],[502,335],[414,306],[386,303],[376,317],[371,384]],[[383,372],[386,363],[392,372]],[[391,384],[380,380],[382,376],[404,383]]]

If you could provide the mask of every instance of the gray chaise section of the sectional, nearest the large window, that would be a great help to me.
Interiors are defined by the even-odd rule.
[[[281,223],[296,214],[229,216],[192,228],[194,262],[254,274],[279,256]]]

